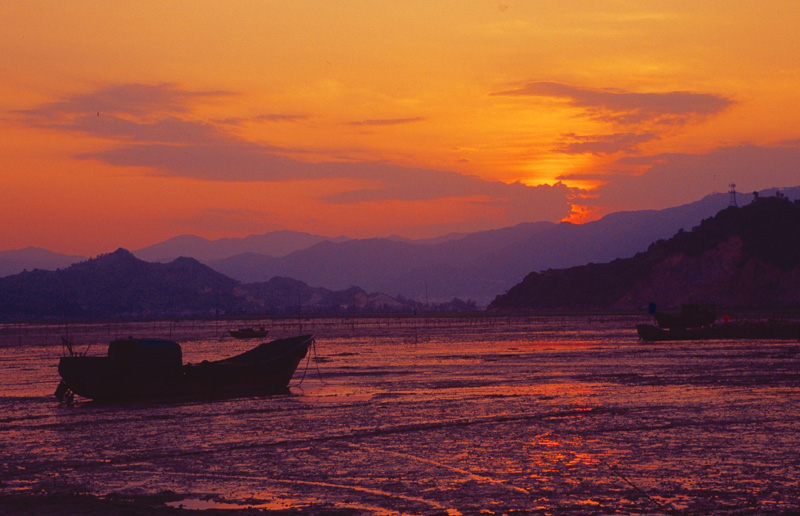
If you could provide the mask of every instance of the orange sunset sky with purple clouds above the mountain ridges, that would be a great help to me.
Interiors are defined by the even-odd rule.
[[[0,250],[800,185],[800,2],[3,1]]]

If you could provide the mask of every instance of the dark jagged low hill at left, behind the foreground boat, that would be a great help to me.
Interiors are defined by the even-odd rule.
[[[194,258],[139,260],[125,249],[58,271],[0,278],[0,320],[411,311],[405,300],[273,278],[242,284]]]

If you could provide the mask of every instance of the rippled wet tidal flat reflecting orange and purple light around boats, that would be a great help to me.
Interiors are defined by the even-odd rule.
[[[800,510],[800,343],[642,344],[635,317],[267,322],[315,333],[292,394],[59,405],[65,332],[103,354],[217,323],[0,327],[0,494],[171,490],[189,507],[365,514]],[[210,496],[209,496],[210,495]]]

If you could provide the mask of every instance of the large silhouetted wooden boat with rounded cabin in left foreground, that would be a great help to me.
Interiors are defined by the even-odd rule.
[[[223,360],[183,364],[177,342],[118,339],[107,356],[72,354],[59,360],[56,397],[101,401],[213,399],[288,392],[313,335],[278,339]],[[69,348],[71,351],[71,348]]]

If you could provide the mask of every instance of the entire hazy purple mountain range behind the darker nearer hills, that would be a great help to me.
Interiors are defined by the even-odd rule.
[[[800,187],[781,191],[790,198],[800,197]],[[775,189],[759,194],[774,195]],[[740,201],[745,197],[740,195]],[[618,212],[580,225],[523,223],[428,240],[332,239],[291,231],[214,241],[179,236],[133,254],[150,262],[192,257],[246,284],[286,277],[333,291],[358,286],[421,302],[457,297],[485,305],[532,271],[633,256],[656,240],[691,229],[729,204],[729,194],[713,194],[683,206]],[[11,259],[10,253],[17,254]],[[22,268],[55,269],[85,259],[62,257],[56,264],[60,255],[55,255],[45,266],[41,259],[25,262],[20,254],[0,252],[0,274]]]

